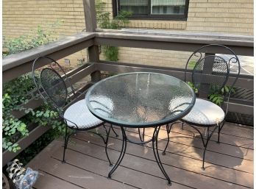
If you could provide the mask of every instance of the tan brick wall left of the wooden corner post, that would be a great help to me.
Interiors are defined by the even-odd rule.
[[[55,38],[74,35],[85,29],[82,0],[3,0],[2,4],[4,40],[36,34],[38,26]],[[76,66],[78,59],[87,60],[86,50],[67,58],[71,65]]]

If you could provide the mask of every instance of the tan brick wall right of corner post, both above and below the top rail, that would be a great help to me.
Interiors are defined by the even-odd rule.
[[[112,1],[105,1],[107,10],[112,13]],[[191,0],[187,21],[131,20],[127,27],[253,35],[253,0]],[[191,52],[120,47],[119,61],[185,68],[190,54]],[[104,56],[101,58],[104,59]]]

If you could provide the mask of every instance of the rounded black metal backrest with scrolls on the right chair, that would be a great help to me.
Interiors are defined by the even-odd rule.
[[[231,56],[228,55],[224,58],[220,55],[210,54],[209,52],[213,50],[218,51],[219,54],[231,54]],[[191,78],[193,87],[199,91],[199,96],[202,98],[207,98],[209,93],[221,92],[229,79],[230,67],[236,68],[232,70],[232,72],[235,71],[233,74],[235,79],[230,85],[231,88],[240,74],[240,62],[235,52],[227,46],[218,44],[202,46],[191,54],[185,67],[185,81],[188,79],[188,73],[191,73],[188,71],[190,64],[194,65]]]

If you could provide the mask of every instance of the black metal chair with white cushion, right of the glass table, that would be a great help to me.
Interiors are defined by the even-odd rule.
[[[232,57],[226,58],[207,53],[211,49],[212,51],[218,51],[221,54],[231,54]],[[195,63],[193,71],[188,71],[188,67],[191,63]],[[232,68],[232,79],[229,79],[230,68]],[[235,82],[240,74],[240,62],[235,52],[227,46],[211,44],[202,46],[191,54],[188,62],[185,66],[185,82],[187,82],[188,76],[191,76],[192,87],[196,91],[196,102],[188,115],[182,118],[182,129],[184,124],[188,124],[193,129],[199,132],[204,146],[203,158],[202,158],[202,169],[205,170],[205,151],[209,143],[213,132],[218,129],[218,143],[220,140],[220,132],[224,126],[225,118],[228,110],[228,103],[230,101],[230,94],[233,90]],[[235,70],[235,71],[234,71]],[[229,82],[228,82],[229,79]],[[228,83],[227,83],[228,82]],[[227,88],[226,85],[230,85]],[[224,92],[224,88],[227,90]],[[212,96],[210,94],[218,94],[220,96]],[[217,97],[218,105],[214,104],[210,99]],[[215,99],[216,100],[216,99]],[[217,100],[216,100],[217,101]],[[227,102],[227,107],[224,108],[224,103]],[[177,100],[179,104],[182,104],[182,99]],[[226,104],[226,103],[225,103]],[[175,106],[175,104],[172,104]],[[180,106],[179,106],[180,108]],[[169,133],[171,132],[172,123],[166,126],[168,141]],[[210,129],[212,128],[212,129]],[[203,130],[206,130],[205,137]],[[166,144],[167,149],[168,143]],[[166,153],[164,149],[163,154]]]

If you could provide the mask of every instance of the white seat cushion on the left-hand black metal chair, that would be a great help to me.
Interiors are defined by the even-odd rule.
[[[85,99],[77,101],[65,110],[64,118],[68,119],[68,126],[76,127],[72,122],[77,124],[79,129],[89,129],[90,127],[102,124],[103,121],[96,118],[90,110],[88,110]]]

